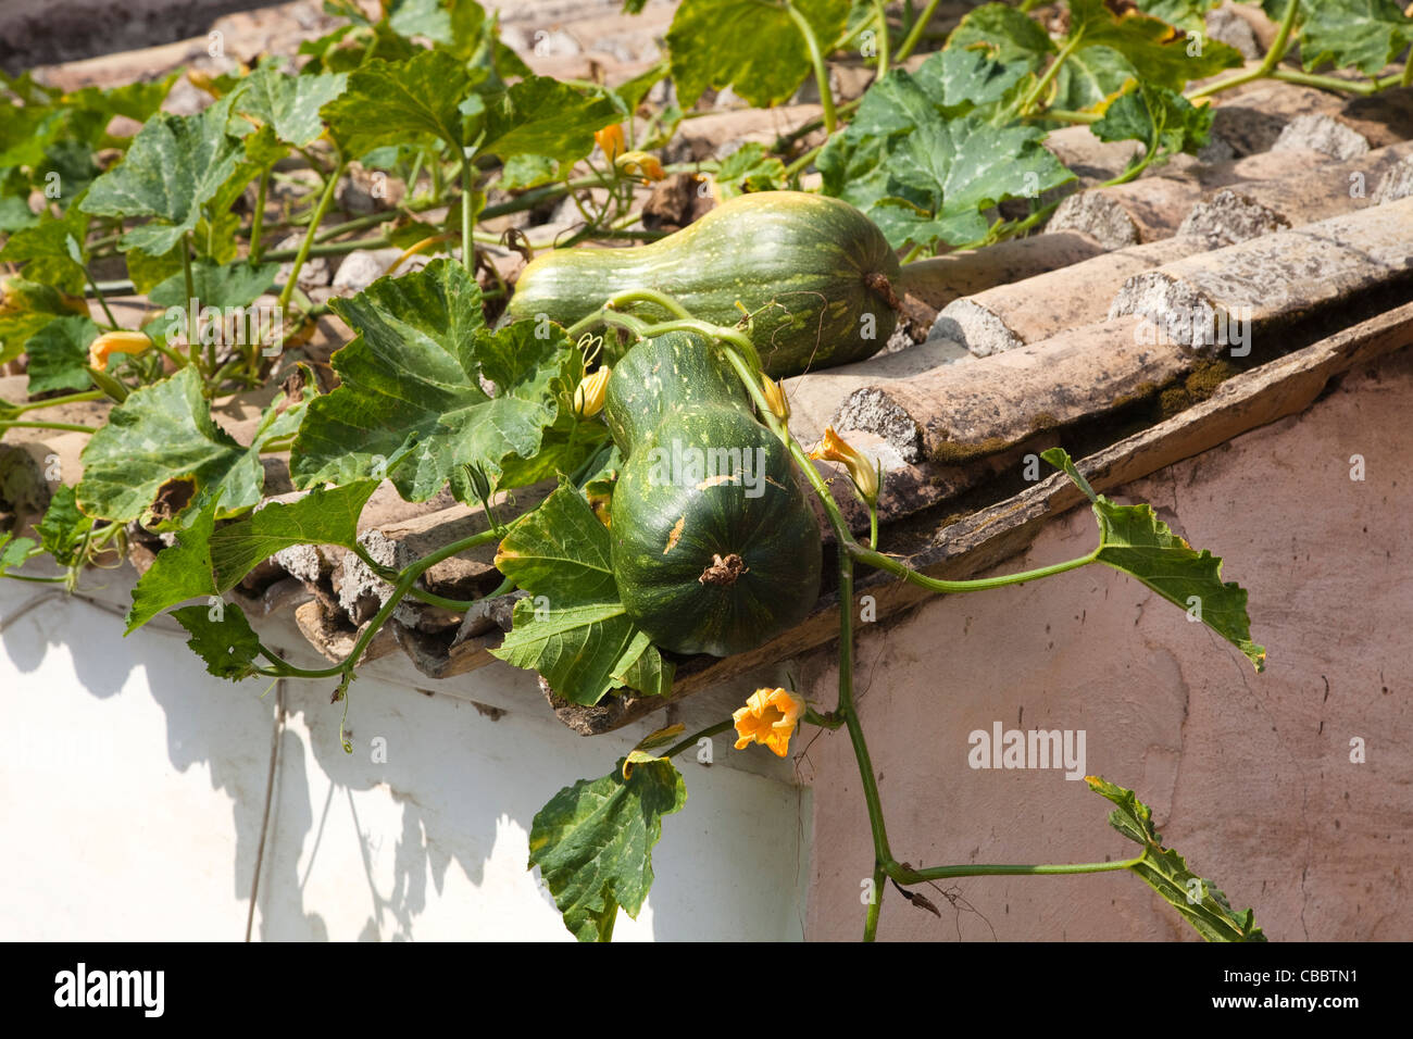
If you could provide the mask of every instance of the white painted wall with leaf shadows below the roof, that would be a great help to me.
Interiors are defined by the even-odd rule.
[[[0,580],[0,939],[239,940],[278,691],[261,700],[263,680],[205,674],[164,618],[124,639],[112,611],[131,578],[85,578],[100,580],[107,604]],[[284,623],[261,625],[264,638],[294,645]],[[284,688],[254,937],[568,940],[526,871],[531,818],[663,717],[586,739],[527,673],[495,664],[432,683],[389,659],[353,684],[345,755],[331,691]],[[386,763],[372,761],[374,736]],[[678,759],[687,806],[664,820],[657,881],[616,940],[801,937],[810,806],[767,758],[718,736],[715,765]]]

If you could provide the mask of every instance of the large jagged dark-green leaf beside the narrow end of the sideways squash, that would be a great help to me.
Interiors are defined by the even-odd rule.
[[[298,486],[386,469],[408,500],[448,479],[468,500],[462,466],[499,478],[512,457],[533,458],[578,385],[582,362],[564,329],[521,321],[487,331],[480,288],[447,259],[332,305],[359,336],[333,355],[342,386],[314,401],[300,428],[290,459]]]

